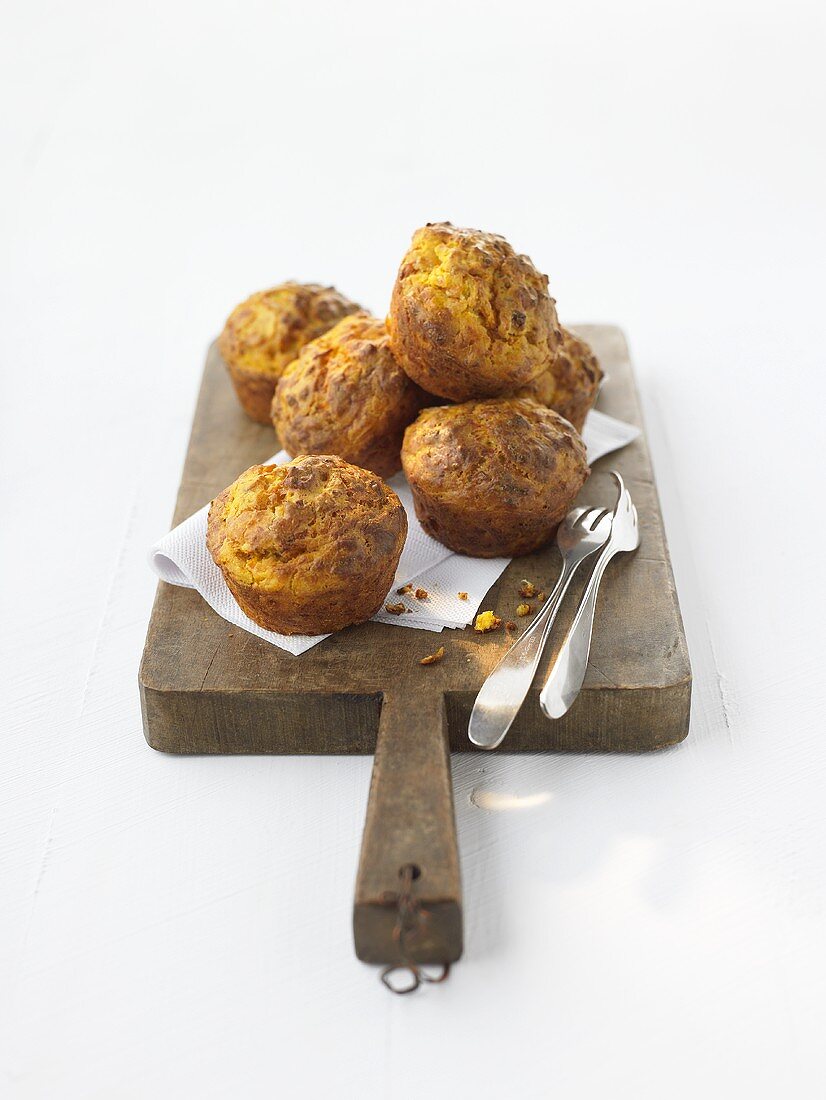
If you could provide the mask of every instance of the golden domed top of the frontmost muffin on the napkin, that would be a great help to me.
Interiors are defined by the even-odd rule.
[[[407,531],[401,502],[381,477],[330,454],[246,470],[212,502],[207,544],[240,584],[296,594],[346,583]]]

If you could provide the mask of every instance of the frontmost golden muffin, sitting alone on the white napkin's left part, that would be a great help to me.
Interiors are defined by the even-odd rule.
[[[239,606],[279,634],[330,634],[375,615],[406,536],[393,490],[332,454],[251,466],[207,521],[207,547]]]

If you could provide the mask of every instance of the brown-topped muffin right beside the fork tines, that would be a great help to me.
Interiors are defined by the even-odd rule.
[[[568,420],[518,397],[425,409],[405,432],[401,464],[425,530],[475,558],[542,546],[590,473]]]

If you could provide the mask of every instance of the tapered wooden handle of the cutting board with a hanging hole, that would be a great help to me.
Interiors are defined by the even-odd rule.
[[[385,693],[353,906],[365,963],[453,963],[462,891],[444,697]]]

